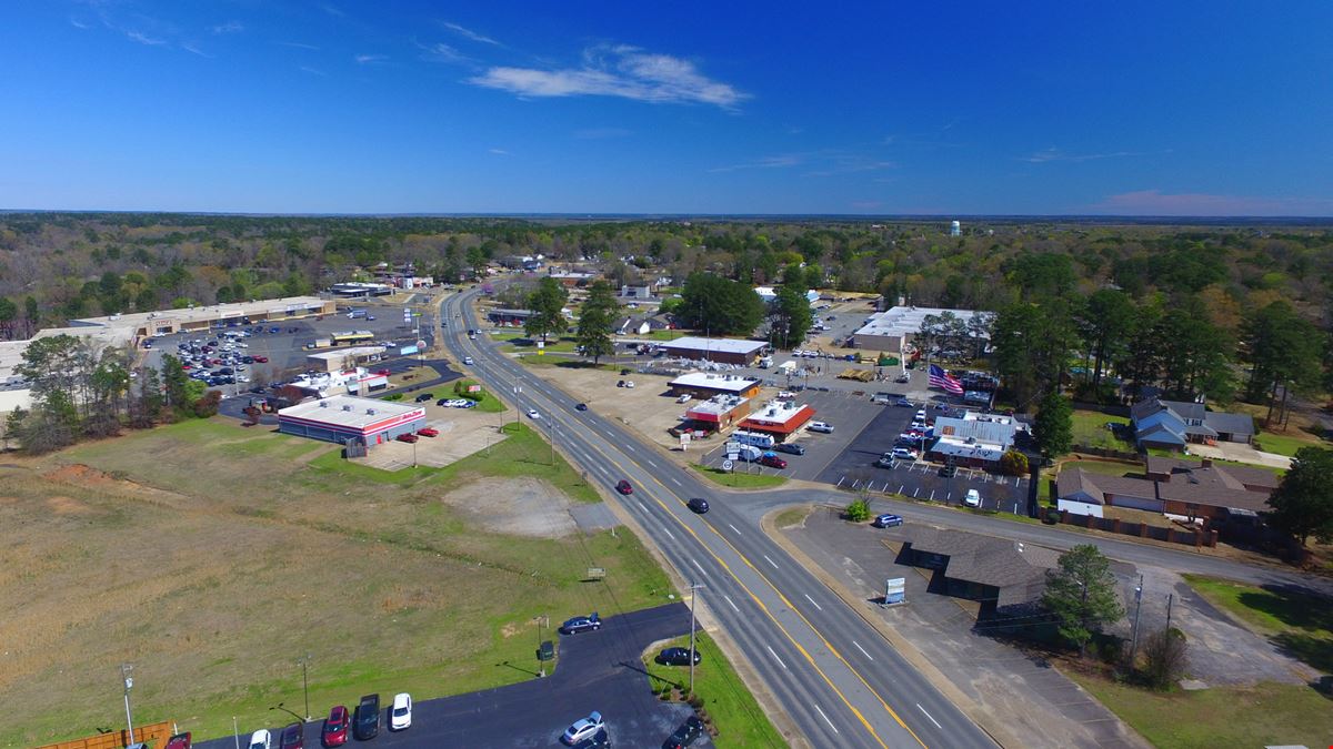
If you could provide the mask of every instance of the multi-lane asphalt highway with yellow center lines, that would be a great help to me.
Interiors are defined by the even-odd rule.
[[[617,501],[680,576],[705,585],[713,618],[810,745],[994,745],[753,516],[729,506],[748,496],[725,493],[619,424],[575,410],[575,398],[487,341],[467,340],[461,331],[476,327],[467,309],[475,293],[445,300],[445,343],[473,356],[473,373],[519,409],[553,420],[559,446],[591,480],[609,488],[627,478],[636,486]],[[684,501],[692,496],[710,497],[712,512],[690,513]]]

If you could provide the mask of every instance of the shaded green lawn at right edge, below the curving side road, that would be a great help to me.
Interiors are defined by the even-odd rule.
[[[1237,616],[1278,649],[1310,668],[1333,673],[1333,598],[1198,574],[1186,574],[1185,580],[1210,604]]]

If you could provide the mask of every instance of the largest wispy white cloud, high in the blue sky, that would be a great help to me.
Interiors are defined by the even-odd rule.
[[[517,96],[615,96],[649,104],[712,104],[734,109],[749,99],[729,84],[698,72],[689,60],[637,47],[596,47],[580,68],[489,68],[468,83]]]

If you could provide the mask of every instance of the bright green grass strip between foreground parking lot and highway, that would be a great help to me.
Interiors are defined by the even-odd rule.
[[[666,648],[689,648],[689,637],[680,637],[664,645]],[[768,716],[754,701],[754,697],[741,684],[732,664],[726,661],[717,644],[704,632],[694,634],[694,648],[702,657],[694,666],[694,694],[704,701],[704,709],[717,726],[713,740],[718,748],[728,746],[782,746],[781,734],[773,728]],[[664,688],[689,689],[689,666],[659,665],[653,650],[644,657],[648,680],[655,692]]]

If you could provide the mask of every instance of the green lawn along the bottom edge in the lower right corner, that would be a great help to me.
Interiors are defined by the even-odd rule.
[[[1326,746],[1333,737],[1333,701],[1309,686],[1265,682],[1162,693],[1101,676],[1069,676],[1157,749]]]

